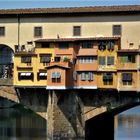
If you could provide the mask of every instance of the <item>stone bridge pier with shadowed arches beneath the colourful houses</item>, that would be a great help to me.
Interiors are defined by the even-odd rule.
[[[1,89],[4,98],[46,119],[47,140],[113,140],[114,116],[140,104],[136,92],[15,88],[12,95]]]

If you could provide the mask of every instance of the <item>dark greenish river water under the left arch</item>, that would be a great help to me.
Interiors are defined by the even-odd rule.
[[[23,107],[0,109],[0,140],[46,140],[46,121]]]

